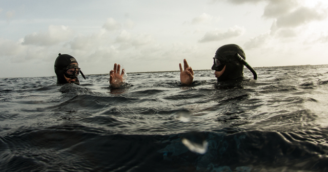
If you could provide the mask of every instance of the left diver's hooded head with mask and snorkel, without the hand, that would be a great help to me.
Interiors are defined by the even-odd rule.
[[[79,73],[86,79],[80,68],[78,68],[78,63],[73,56],[59,53],[54,66],[57,83],[75,83],[79,85],[80,82],[77,78]]]

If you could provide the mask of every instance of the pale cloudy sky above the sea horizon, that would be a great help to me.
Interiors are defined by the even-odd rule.
[[[328,1],[0,1],[0,78],[54,76],[59,53],[84,74],[211,69],[226,44],[252,67],[328,64]]]

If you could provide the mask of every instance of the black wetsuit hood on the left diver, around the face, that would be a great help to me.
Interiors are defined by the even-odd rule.
[[[55,73],[57,75],[57,83],[67,83],[64,75],[67,75],[65,73],[65,69],[71,64],[71,63],[77,63],[78,62],[76,61],[76,59],[71,56],[71,55],[68,55],[68,54],[58,54],[58,57],[56,58],[56,61],[55,61],[55,65],[54,65],[54,68],[55,68]],[[77,68],[78,68],[78,65],[77,65]],[[77,78],[76,75],[73,75],[72,76],[66,76],[68,78],[75,78],[75,81],[74,83],[75,84],[79,84],[79,80]]]

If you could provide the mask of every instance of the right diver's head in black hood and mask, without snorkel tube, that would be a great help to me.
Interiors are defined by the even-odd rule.
[[[245,53],[241,47],[235,44],[228,44],[217,49],[212,70],[215,70],[215,77],[218,81],[236,79],[243,76],[243,64],[235,57],[238,53],[245,59]]]

